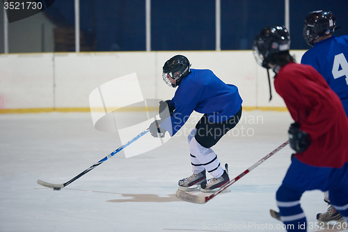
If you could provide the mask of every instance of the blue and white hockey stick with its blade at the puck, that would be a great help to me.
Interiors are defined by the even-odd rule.
[[[102,164],[104,161],[108,160],[109,158],[113,157],[113,155],[115,155],[116,153],[120,152],[121,150],[123,150],[124,148],[126,148],[129,144],[132,144],[132,142],[136,141],[137,139],[139,139],[140,137],[142,137],[144,134],[146,134],[147,132],[149,132],[150,130],[145,130],[143,132],[141,132],[140,134],[138,134],[136,137],[134,137],[134,139],[128,141],[126,144],[120,146],[119,148],[117,148],[116,150],[114,150],[112,153],[110,153],[109,155],[106,155],[106,157],[104,157],[102,160],[96,162],[95,164],[93,164],[92,166],[90,166],[88,169],[86,169],[85,171],[82,171],[81,173],[79,173],[79,175],[75,176],[74,178],[72,178],[71,180],[69,180],[68,182],[65,182],[63,184],[51,184],[51,183],[47,183],[45,181],[42,180],[38,180],[38,184],[42,185],[44,187],[50,187],[53,188],[54,190],[61,190],[61,188],[69,185],[70,183],[72,183],[73,181],[77,180],[78,178],[80,178],[81,176],[84,176],[84,174],[88,173],[88,171],[91,171],[92,169],[94,169],[95,167],[99,166],[100,164]]]

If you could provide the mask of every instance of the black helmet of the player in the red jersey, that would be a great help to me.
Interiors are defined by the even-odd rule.
[[[255,37],[253,53],[256,61],[269,69],[268,63],[272,62],[272,54],[289,51],[290,34],[283,25],[266,26]]]

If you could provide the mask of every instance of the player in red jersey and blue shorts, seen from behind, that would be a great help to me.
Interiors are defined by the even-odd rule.
[[[348,219],[348,119],[342,103],[310,65],[295,63],[285,26],[267,26],[255,37],[255,58],[276,73],[274,86],[294,123],[288,131],[295,150],[276,192],[280,218],[287,231],[306,231],[300,199],[309,190],[329,191],[332,205]]]

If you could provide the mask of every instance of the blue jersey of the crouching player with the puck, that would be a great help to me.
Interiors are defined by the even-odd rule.
[[[166,118],[160,126],[173,136],[193,111],[207,114],[213,123],[226,121],[237,114],[242,102],[237,86],[225,84],[211,70],[191,69],[169,102],[175,105],[173,116]]]

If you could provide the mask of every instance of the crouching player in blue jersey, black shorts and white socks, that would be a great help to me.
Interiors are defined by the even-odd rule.
[[[167,131],[173,137],[193,111],[204,114],[188,136],[193,174],[179,180],[179,189],[191,191],[200,185],[201,191],[212,192],[230,180],[227,164],[224,170],[212,146],[239,122],[242,98],[237,86],[225,84],[211,70],[190,67],[182,55],[164,63],[164,82],[177,89],[173,99],[159,103],[161,120],[149,128],[153,137],[164,137]],[[206,171],[212,176],[209,180]]]

